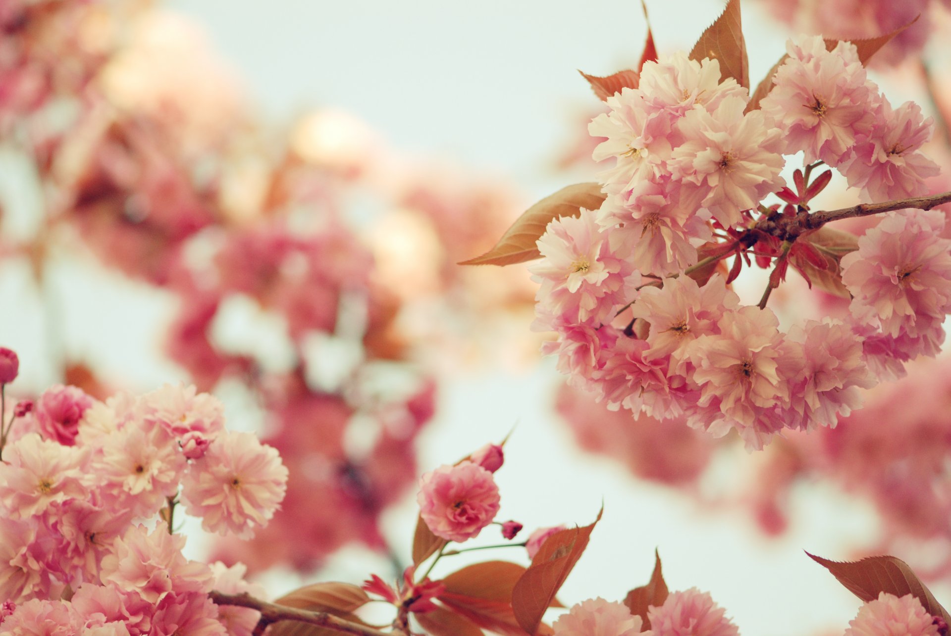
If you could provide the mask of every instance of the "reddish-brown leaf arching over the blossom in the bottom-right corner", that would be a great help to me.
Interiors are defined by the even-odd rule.
[[[895,596],[913,594],[932,616],[941,616],[951,624],[951,615],[924,586],[904,561],[894,556],[870,556],[861,561],[839,563],[809,554],[809,558],[832,572],[839,583],[865,603],[877,599],[880,592]]]

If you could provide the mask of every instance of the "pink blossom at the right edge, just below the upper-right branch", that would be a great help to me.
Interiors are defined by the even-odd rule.
[[[859,239],[859,249],[842,260],[857,320],[891,337],[917,337],[930,318],[944,319],[951,310],[951,241],[941,239],[943,227],[937,210],[902,210]]]

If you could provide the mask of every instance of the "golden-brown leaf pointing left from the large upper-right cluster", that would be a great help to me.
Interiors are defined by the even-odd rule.
[[[523,212],[491,250],[459,264],[512,265],[540,258],[535,243],[545,233],[549,222],[560,217],[575,217],[582,207],[596,210],[604,200],[605,195],[598,183],[575,183],[563,187]]]

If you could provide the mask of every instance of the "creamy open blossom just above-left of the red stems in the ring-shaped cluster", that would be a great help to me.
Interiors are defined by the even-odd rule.
[[[780,131],[767,126],[762,111],[744,114],[746,106],[745,98],[728,97],[715,110],[690,110],[677,124],[685,142],[670,156],[674,178],[699,188],[724,227],[743,222],[741,211],[786,184]]]

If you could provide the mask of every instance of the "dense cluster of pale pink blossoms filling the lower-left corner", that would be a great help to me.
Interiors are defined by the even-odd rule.
[[[257,612],[208,592],[259,588],[242,565],[185,559],[173,515],[250,537],[286,489],[275,449],[225,430],[194,387],[101,402],[58,385],[3,419],[0,633],[250,634]]]

